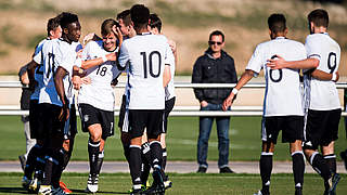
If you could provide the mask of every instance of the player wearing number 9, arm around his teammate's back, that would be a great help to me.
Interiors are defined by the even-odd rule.
[[[307,60],[286,62],[283,58],[270,61],[273,68],[292,68],[293,64],[318,64],[307,68],[304,75],[306,138],[304,152],[306,159],[324,180],[324,194],[335,194],[339,174],[336,173],[334,142],[338,135],[340,103],[335,81],[338,79],[340,48],[327,34],[329,14],[325,10],[313,10],[308,14],[310,35],[305,47]],[[323,76],[322,76],[323,75]],[[321,146],[322,155],[318,147]]]

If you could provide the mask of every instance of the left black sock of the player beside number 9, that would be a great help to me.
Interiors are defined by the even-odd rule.
[[[272,153],[261,153],[259,166],[261,177],[261,192],[268,194],[270,192],[270,178],[272,171]]]

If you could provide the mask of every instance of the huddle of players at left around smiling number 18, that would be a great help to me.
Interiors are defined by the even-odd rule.
[[[117,21],[105,20],[101,37],[89,34],[83,47],[76,14],[63,12],[49,20],[48,38],[36,47],[27,64],[33,90],[30,133],[37,144],[24,169],[25,188],[41,195],[68,193],[60,179],[77,133],[75,89],[82,131],[89,132],[86,191],[98,192],[104,145],[114,134],[113,87],[123,72],[128,80],[118,126],[133,183],[130,193],[164,194],[171,186],[164,172],[165,132],[175,104],[176,44],[160,29],[159,17],[136,4],[119,13]],[[150,186],[151,168],[154,181]]]

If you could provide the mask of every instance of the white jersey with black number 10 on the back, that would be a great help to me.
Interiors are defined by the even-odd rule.
[[[127,99],[129,109],[164,109],[163,73],[174,58],[163,35],[143,34],[123,42],[119,64],[129,64]]]

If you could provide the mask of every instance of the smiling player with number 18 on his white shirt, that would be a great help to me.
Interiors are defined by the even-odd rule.
[[[90,41],[81,54],[81,68],[86,69],[86,77],[90,84],[81,86],[78,94],[78,105],[82,122],[82,130],[89,132],[88,153],[90,172],[87,191],[98,191],[99,174],[104,158],[104,144],[114,134],[114,104],[115,94],[111,81],[121,73],[115,61],[108,61],[106,54],[115,53],[117,37],[121,44],[123,36],[115,34],[113,27],[118,23],[112,18],[101,25],[101,41]],[[102,58],[98,66],[91,66],[89,60]],[[89,63],[89,65],[87,65]]]

